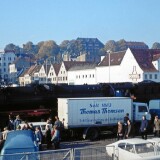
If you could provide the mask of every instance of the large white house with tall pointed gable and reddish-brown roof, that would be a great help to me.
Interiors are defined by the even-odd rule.
[[[152,64],[151,53],[146,49],[128,48],[127,51],[106,55],[96,67],[97,83],[137,83],[144,80],[144,72],[158,72]]]

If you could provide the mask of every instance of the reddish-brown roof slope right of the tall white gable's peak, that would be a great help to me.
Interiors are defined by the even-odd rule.
[[[145,72],[156,72],[157,69],[152,64],[153,50],[150,49],[130,49],[140,68]]]

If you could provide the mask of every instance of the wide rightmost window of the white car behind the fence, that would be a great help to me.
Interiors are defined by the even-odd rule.
[[[135,150],[137,154],[154,152],[154,146],[152,143],[136,144]]]

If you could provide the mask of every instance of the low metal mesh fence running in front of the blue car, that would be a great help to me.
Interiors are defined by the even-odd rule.
[[[113,150],[113,147],[112,147]],[[112,160],[105,146],[0,155],[0,160]]]

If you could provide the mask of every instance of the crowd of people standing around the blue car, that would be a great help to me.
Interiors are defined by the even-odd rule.
[[[19,115],[16,116],[15,120],[12,118],[12,116],[9,115],[8,125],[4,127],[4,130],[1,132],[0,135],[0,143],[4,144],[7,138],[7,134],[10,131],[32,130],[35,135],[35,141],[39,146],[39,150],[42,150],[42,143],[47,144],[47,149],[51,149],[52,146],[57,149],[59,148],[59,143],[61,139],[60,135],[63,127],[63,122],[59,120],[58,116],[55,116],[54,123],[52,122],[51,118],[48,118],[45,126],[45,134],[43,135],[40,127],[34,127],[32,123],[28,123],[27,121],[25,121],[22,125],[22,120]]]

